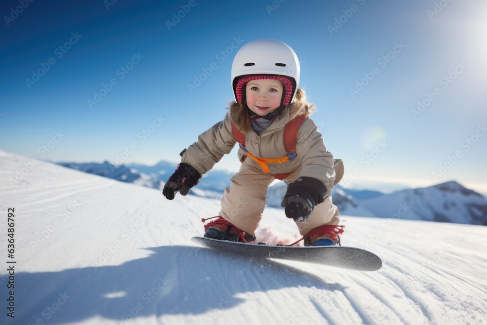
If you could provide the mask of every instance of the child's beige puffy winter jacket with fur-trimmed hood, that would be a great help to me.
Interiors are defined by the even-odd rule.
[[[235,138],[232,132],[232,116],[239,110],[239,104],[232,102],[229,111],[223,121],[218,122],[203,134],[198,136],[198,141],[181,153],[181,162],[193,166],[201,175],[208,172],[222,159],[224,154],[230,153],[235,146]],[[245,134],[245,147],[248,152],[259,158],[281,158],[287,155],[284,148],[284,125],[298,115],[306,114],[303,107],[292,103],[281,114],[277,115],[274,122],[261,135],[255,133],[252,128]],[[285,163],[269,163],[272,174],[292,172],[301,167],[300,176],[319,179],[331,195],[331,189],[335,180],[333,155],[326,150],[323,136],[318,132],[315,122],[308,116],[300,127],[296,151],[298,157]],[[238,152],[241,162],[245,159],[245,152],[240,148]],[[245,159],[245,163],[254,164],[261,168],[254,160]]]

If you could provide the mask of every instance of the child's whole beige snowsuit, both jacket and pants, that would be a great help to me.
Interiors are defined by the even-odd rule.
[[[281,158],[287,154],[283,142],[284,125],[295,116],[306,114],[303,107],[296,102],[290,104],[261,135],[250,127],[245,134],[245,147],[249,153],[259,158]],[[232,132],[232,116],[235,116],[239,104],[232,102],[225,119],[200,134],[195,142],[182,153],[182,163],[191,165],[201,175],[208,172],[224,154],[230,153],[235,145]],[[222,198],[220,215],[227,221],[249,234],[254,234],[262,211],[265,207],[267,188],[275,179],[273,174],[292,172],[284,180],[291,183],[300,176],[313,177],[325,184],[327,193],[324,201],[317,205],[305,222],[297,222],[301,235],[322,225],[338,225],[340,214],[332,203],[331,193],[336,178],[333,155],[326,150],[322,135],[315,122],[304,120],[298,133],[298,157],[285,163],[268,163],[270,173],[246,156],[240,148],[240,171],[231,179],[231,185],[225,190]],[[341,161],[337,173],[342,174]],[[341,178],[338,175],[338,178]],[[285,216],[283,216],[285,217]]]

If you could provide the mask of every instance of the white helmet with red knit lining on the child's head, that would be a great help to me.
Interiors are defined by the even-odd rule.
[[[300,62],[289,45],[275,39],[256,39],[237,52],[232,64],[235,100],[245,100],[244,84],[255,79],[275,79],[284,84],[282,105],[294,101],[300,83]]]

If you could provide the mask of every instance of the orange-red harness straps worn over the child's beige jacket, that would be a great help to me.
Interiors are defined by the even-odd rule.
[[[244,150],[244,152],[249,156],[251,159],[255,160],[259,166],[261,166],[263,172],[270,172],[269,167],[267,166],[268,163],[283,163],[293,160],[298,156],[298,152],[296,151],[296,145],[298,143],[298,132],[300,131],[301,124],[306,119],[306,115],[296,116],[291,121],[287,122],[284,126],[284,134],[282,135],[284,141],[284,147],[288,152],[286,156],[281,158],[259,158],[254,156],[252,153],[247,151],[245,148],[245,135],[240,132],[240,130],[232,123],[232,131],[233,137],[235,141],[240,144],[240,148]],[[282,173],[282,174],[274,174],[273,176],[277,179],[284,179],[289,176],[291,172]]]

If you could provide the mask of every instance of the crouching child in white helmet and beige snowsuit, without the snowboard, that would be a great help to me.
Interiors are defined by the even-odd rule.
[[[225,190],[218,219],[205,225],[205,237],[255,241],[267,188],[277,178],[288,184],[281,206],[295,220],[304,245],[339,245],[343,226],[337,226],[340,214],[331,193],[341,176],[309,117],[314,105],[298,88],[299,81],[298,57],[280,41],[254,40],[237,52],[232,65],[236,101],[230,103],[223,121],[180,154],[181,163],[163,189],[169,200],[178,191],[186,195],[239,140],[242,166]],[[286,126],[296,123],[294,138],[291,135],[288,141],[295,149],[289,152],[283,139],[290,137],[285,132],[292,127],[286,131]]]

